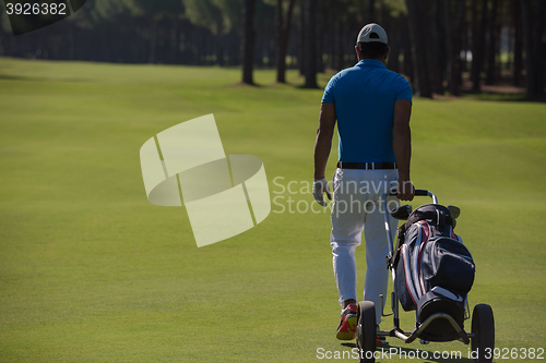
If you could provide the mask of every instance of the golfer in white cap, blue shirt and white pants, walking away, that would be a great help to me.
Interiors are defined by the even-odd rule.
[[[367,266],[364,300],[376,304],[379,324],[385,300],[379,295],[387,297],[389,278],[389,246],[379,198],[392,187],[402,201],[412,201],[415,194],[410,180],[412,87],[404,77],[387,70],[390,48],[381,26],[363,27],[355,49],[358,63],[334,75],[324,89],[314,144],[313,196],[327,206],[323,193],[332,196],[324,171],[337,120],[339,162],[333,176],[330,244],[343,308],[336,335],[341,340],[352,340],[356,335],[355,249],[363,230]],[[396,221],[392,219],[391,223],[394,233]]]

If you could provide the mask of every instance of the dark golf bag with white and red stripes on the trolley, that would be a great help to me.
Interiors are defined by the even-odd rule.
[[[396,291],[404,311],[417,310],[417,324],[437,313],[449,314],[462,327],[466,294],[475,266],[468,250],[453,232],[455,219],[438,204],[415,209],[397,230],[393,256]],[[434,320],[423,339],[453,340],[450,324]]]

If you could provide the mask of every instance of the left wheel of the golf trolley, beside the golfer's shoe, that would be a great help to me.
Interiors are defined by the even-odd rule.
[[[358,362],[376,361],[376,306],[371,301],[360,301],[356,312],[356,348]]]

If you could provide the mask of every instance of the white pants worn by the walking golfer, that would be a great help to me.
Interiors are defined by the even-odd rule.
[[[396,186],[397,170],[337,169],[333,177],[332,233],[330,244],[340,304],[348,299],[358,301],[356,295],[355,249],[360,245],[361,233],[366,239],[366,281],[364,300],[376,304],[377,324],[381,322],[387,301],[389,270],[387,255],[389,245],[384,229],[383,205],[380,196]],[[388,205],[397,205],[395,197],[388,198]],[[397,221],[390,217],[391,233],[394,239]]]

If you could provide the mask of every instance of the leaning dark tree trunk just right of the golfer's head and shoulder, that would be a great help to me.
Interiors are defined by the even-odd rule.
[[[429,66],[427,61],[427,49],[425,37],[422,33],[420,10],[418,5],[420,0],[406,0],[407,16],[410,25],[410,35],[412,39],[412,58],[416,75],[416,90],[422,97],[432,97],[430,89]]]

